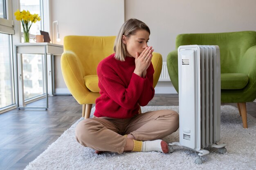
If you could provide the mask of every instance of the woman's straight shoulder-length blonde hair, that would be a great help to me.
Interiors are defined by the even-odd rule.
[[[115,51],[115,59],[124,61],[126,57],[126,46],[122,41],[123,35],[126,37],[130,37],[130,35],[135,35],[137,30],[146,30],[150,34],[149,27],[142,21],[137,19],[129,19],[121,26],[121,29],[117,35],[114,44],[114,51]]]

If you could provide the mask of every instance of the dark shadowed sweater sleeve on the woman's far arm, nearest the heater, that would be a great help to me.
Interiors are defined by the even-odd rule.
[[[146,106],[148,102],[150,102],[151,99],[153,99],[155,95],[155,89],[153,87],[153,74],[154,74],[154,68],[152,63],[150,64],[145,79],[145,84],[143,87],[143,91],[139,97],[139,105],[140,106]]]

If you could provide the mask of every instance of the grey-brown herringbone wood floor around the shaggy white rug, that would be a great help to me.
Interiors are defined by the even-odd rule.
[[[44,106],[44,99],[32,105]],[[156,94],[148,106],[177,106],[177,94]],[[231,104],[236,106],[236,104]],[[23,170],[81,117],[72,96],[49,97],[49,109],[14,109],[0,114],[0,169]],[[256,117],[256,103],[247,103]],[[242,128],[242,120],[241,120]]]

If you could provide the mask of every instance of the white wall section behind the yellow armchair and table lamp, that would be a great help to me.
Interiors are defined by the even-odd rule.
[[[51,39],[52,22],[58,20],[61,42],[54,40],[55,35],[56,44],[63,44],[66,35],[117,35],[124,23],[124,0],[49,0],[49,3]],[[67,93],[60,60],[61,56],[55,56],[56,93]]]

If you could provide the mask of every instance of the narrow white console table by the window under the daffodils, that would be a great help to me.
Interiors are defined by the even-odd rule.
[[[49,42],[39,43],[16,43],[14,44],[14,60],[16,63],[16,99],[18,108],[45,108],[48,109],[48,94],[54,95],[54,55],[61,55],[63,53],[63,45],[51,44]],[[20,55],[18,55],[20,54]],[[24,80],[23,80],[23,63],[22,54],[43,54],[44,60],[43,73],[45,77],[45,107],[27,107],[25,105],[24,97]],[[47,62],[47,55],[50,55],[50,60]],[[49,72],[49,81],[48,81]]]

